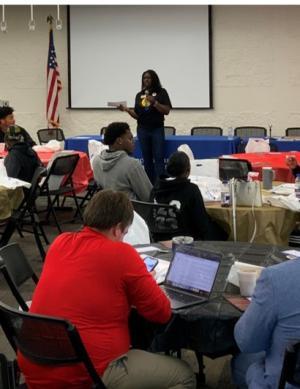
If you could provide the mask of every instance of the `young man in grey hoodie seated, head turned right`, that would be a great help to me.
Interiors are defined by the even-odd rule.
[[[97,184],[126,192],[132,200],[148,201],[152,184],[141,163],[130,156],[134,140],[129,125],[111,123],[105,131],[104,144],[109,149],[96,155],[92,162]]]

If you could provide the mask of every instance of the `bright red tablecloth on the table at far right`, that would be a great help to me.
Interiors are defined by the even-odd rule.
[[[232,154],[232,157],[246,159],[251,163],[252,170],[259,173],[259,179],[262,179],[262,168],[271,167],[275,171],[275,180],[283,182],[295,182],[291,170],[286,166],[286,156],[294,155],[300,161],[300,152],[281,152],[281,153],[242,153]]]

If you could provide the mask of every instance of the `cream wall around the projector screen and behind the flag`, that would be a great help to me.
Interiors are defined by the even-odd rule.
[[[54,16],[56,7],[35,6],[34,9],[35,32],[29,32],[27,27],[29,6],[7,6],[8,32],[0,33],[0,99],[10,101],[17,122],[33,135],[46,125],[46,17],[49,13]],[[100,127],[113,120],[128,121],[135,129],[135,121],[119,111],[66,109],[66,9],[62,10],[62,18],[64,29],[55,31],[54,38],[63,82],[61,123],[66,135],[96,134]],[[299,20],[300,6],[214,6],[215,108],[173,111],[166,124],[174,125],[182,134],[189,133],[194,125],[227,128],[272,123],[274,135],[283,134],[288,126],[300,126]],[[126,77],[126,69],[123,71]]]

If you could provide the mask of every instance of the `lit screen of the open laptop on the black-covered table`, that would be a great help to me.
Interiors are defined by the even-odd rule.
[[[194,293],[210,293],[219,264],[219,259],[209,259],[177,251],[171,262],[166,284]]]

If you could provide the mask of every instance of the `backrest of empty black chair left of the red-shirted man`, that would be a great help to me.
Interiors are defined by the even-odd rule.
[[[37,284],[38,277],[17,243],[0,248],[0,271],[20,307],[23,311],[28,311],[28,306],[19,291],[19,287],[29,279]]]

